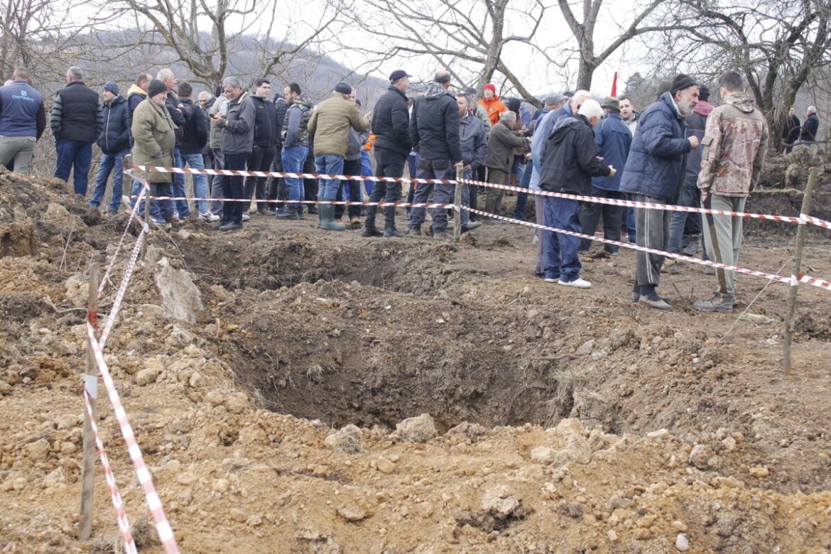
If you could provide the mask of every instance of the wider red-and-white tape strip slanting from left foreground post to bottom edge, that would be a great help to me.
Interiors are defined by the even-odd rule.
[[[107,395],[110,397],[110,402],[116,412],[116,419],[118,419],[121,435],[127,443],[127,452],[130,454],[130,460],[132,460],[133,466],[135,467],[135,474],[139,478],[139,484],[145,493],[147,507],[150,508],[150,513],[153,516],[156,532],[159,533],[159,540],[161,541],[162,547],[165,548],[166,554],[178,554],[179,547],[176,546],[173,529],[170,527],[167,516],[165,516],[165,509],[162,507],[159,494],[156,493],[155,487],[153,486],[153,478],[150,476],[150,471],[145,465],[145,459],[141,455],[139,444],[135,440],[135,433],[133,433],[133,428],[130,426],[127,412],[121,404],[118,390],[116,390],[116,384],[113,382],[110,369],[104,360],[104,353],[101,351],[101,346],[98,345],[98,341],[96,341],[95,329],[89,323],[86,324],[86,332],[92,344],[92,353],[95,355],[98,369],[101,370],[101,379],[104,380]]]

